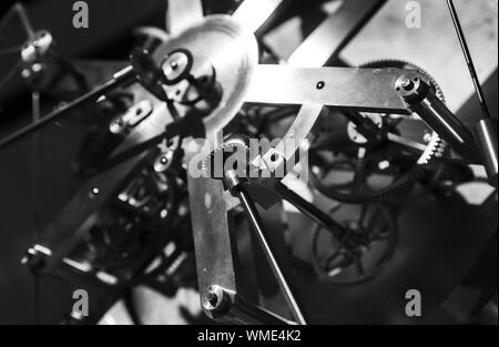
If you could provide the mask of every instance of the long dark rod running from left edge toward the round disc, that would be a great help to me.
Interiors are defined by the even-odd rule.
[[[48,123],[54,122],[59,120],[62,115],[67,114],[70,111],[73,111],[74,109],[82,106],[90,102],[95,102],[100,96],[104,95],[105,93],[110,92],[113,89],[116,89],[128,82],[131,82],[133,79],[135,79],[135,73],[131,67],[125,68],[124,70],[120,71],[114,75],[114,78],[106,83],[98,86],[93,91],[78,98],[77,100],[71,101],[70,103],[65,104],[64,106],[55,110],[54,112],[50,113],[49,115],[44,116],[38,122],[33,122],[30,125],[14,132],[13,134],[7,136],[3,140],[0,140],[0,149],[20,140],[24,136],[31,134],[34,131],[38,131],[40,127],[44,126]]]

